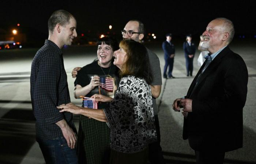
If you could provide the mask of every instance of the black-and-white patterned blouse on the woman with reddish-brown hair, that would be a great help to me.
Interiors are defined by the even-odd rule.
[[[123,77],[110,107],[103,110],[112,149],[134,153],[157,140],[151,88],[143,78]]]

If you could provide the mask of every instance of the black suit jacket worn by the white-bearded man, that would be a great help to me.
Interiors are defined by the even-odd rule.
[[[192,112],[184,118],[183,139],[196,151],[232,151],[242,147],[242,109],[247,95],[248,71],[244,60],[225,47],[202,74],[192,93],[198,71],[186,98]]]

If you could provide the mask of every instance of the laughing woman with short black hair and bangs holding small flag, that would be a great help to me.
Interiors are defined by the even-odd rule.
[[[97,42],[97,59],[82,67],[75,80],[75,98],[91,97],[94,94],[113,95],[113,90],[99,87],[100,78],[111,78],[113,82],[120,81],[118,68],[113,65],[114,51],[118,50],[118,42],[112,37],[103,37]],[[114,84],[114,83],[113,83]],[[84,107],[84,106],[83,106]],[[109,103],[102,102],[98,108],[108,108]],[[78,162],[79,164],[108,164],[110,156],[110,129],[104,122],[80,115],[78,130]]]

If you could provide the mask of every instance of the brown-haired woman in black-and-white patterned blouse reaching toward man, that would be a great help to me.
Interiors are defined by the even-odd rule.
[[[83,114],[106,122],[110,128],[110,164],[146,164],[148,144],[156,141],[150,83],[151,69],[146,48],[133,40],[122,40],[114,52],[114,65],[122,77],[114,98],[95,94],[110,102],[106,109],[89,109],[74,104],[60,105],[60,112]]]

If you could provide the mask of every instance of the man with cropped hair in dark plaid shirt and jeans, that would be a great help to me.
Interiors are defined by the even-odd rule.
[[[76,128],[69,112],[56,106],[70,102],[67,74],[61,48],[77,36],[76,20],[64,10],[53,12],[48,20],[49,38],[32,62],[30,94],[36,118],[36,139],[46,163],[78,163]]]

